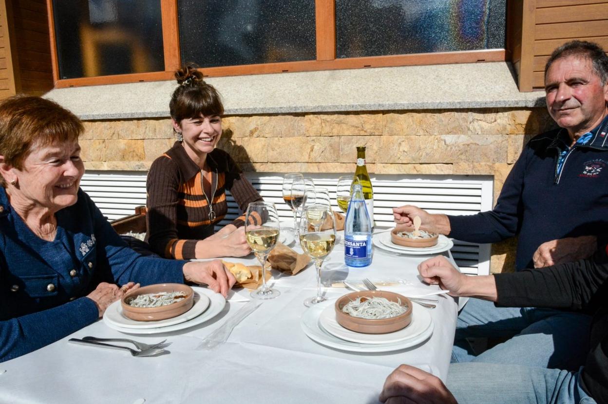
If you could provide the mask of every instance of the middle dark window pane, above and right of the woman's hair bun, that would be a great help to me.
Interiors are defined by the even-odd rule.
[[[180,0],[178,9],[183,63],[316,59],[314,0]]]

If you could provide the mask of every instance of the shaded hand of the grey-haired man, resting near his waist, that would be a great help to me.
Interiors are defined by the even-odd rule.
[[[534,252],[534,268],[563,264],[589,258],[597,250],[595,236],[570,237],[542,243]]]

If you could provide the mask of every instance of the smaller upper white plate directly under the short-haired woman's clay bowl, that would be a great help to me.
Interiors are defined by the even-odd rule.
[[[106,309],[105,313],[103,313],[103,321],[121,328],[144,329],[168,327],[173,326],[174,324],[184,323],[184,321],[192,320],[207,310],[207,307],[209,307],[209,298],[206,295],[201,295],[201,293],[194,292],[194,304],[187,312],[176,317],[167,318],[165,320],[137,321],[125,317],[122,310],[122,304],[120,304],[120,300],[117,300],[112,303],[108,309]]]

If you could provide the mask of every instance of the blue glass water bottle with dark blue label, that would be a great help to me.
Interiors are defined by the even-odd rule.
[[[344,225],[344,262],[349,267],[371,264],[371,219],[361,185],[353,185]]]

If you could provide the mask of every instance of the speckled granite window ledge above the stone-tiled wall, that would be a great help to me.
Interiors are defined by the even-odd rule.
[[[509,63],[442,64],[208,78],[226,115],[420,109],[534,108]],[[45,97],[83,120],[168,117],[174,81],[54,89]]]

